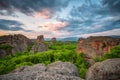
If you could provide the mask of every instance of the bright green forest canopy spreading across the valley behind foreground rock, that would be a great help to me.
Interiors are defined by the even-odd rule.
[[[46,44],[49,44],[48,42]],[[76,42],[56,42],[49,45],[46,52],[38,52],[31,54],[28,50],[25,53],[16,53],[14,56],[7,56],[0,59],[0,75],[9,73],[10,71],[25,65],[34,65],[43,63],[48,65],[55,61],[71,62],[75,64],[79,70],[80,77],[84,78],[88,69],[88,63],[84,59],[84,55],[76,53]]]

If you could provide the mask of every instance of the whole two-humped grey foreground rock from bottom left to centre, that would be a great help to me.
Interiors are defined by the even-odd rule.
[[[75,65],[70,62],[55,62],[47,67],[43,64],[20,67],[1,75],[0,80],[83,80]]]

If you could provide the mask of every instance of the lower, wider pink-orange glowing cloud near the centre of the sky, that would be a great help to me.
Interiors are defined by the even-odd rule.
[[[64,28],[68,25],[67,22],[54,22],[54,23],[44,23],[42,29],[56,31],[60,28]]]

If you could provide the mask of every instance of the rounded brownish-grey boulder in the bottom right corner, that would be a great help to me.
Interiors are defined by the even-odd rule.
[[[120,80],[120,58],[95,63],[89,68],[85,80]]]

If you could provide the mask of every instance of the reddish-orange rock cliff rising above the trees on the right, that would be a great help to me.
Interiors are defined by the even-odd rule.
[[[87,39],[79,39],[77,45],[77,52],[83,52],[86,57],[94,58],[95,56],[102,56],[109,52],[114,46],[120,45],[120,39],[111,37],[89,37]]]

